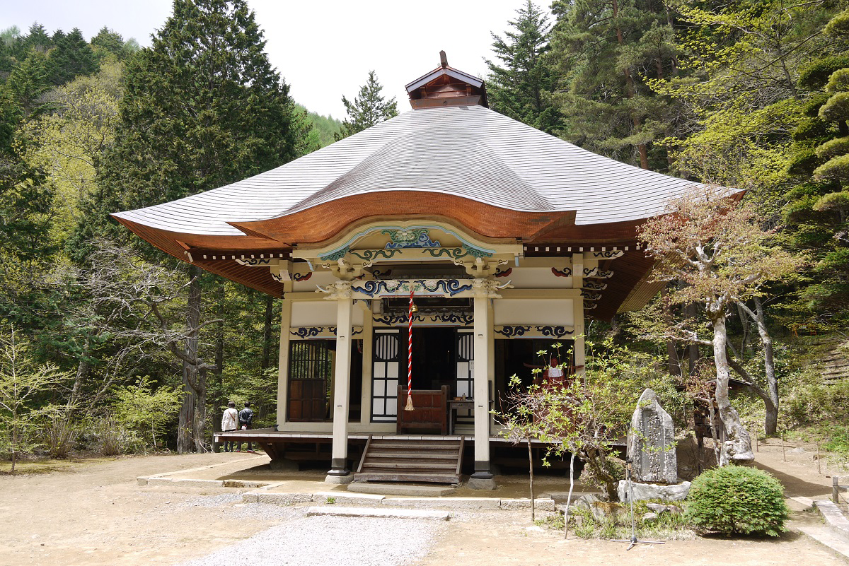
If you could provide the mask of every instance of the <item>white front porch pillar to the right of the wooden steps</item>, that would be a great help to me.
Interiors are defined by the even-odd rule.
[[[486,287],[484,287],[486,290]],[[475,293],[475,474],[472,477],[492,479],[489,465],[489,374],[490,319],[486,291]]]

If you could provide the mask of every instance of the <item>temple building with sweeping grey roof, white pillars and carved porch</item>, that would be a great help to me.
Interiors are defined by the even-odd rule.
[[[491,479],[509,377],[530,379],[555,341],[580,374],[588,319],[655,296],[636,228],[693,185],[490,110],[484,82],[444,55],[407,92],[407,112],[277,169],[113,214],[282,299],[277,427],[218,437],[248,436],[273,462],[327,458],[340,483]],[[423,471],[405,441],[455,454]]]

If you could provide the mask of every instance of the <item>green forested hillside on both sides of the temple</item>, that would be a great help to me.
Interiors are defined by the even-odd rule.
[[[203,450],[228,399],[274,420],[275,300],[167,258],[108,217],[272,169],[340,131],[290,98],[245,3],[227,3],[223,19],[214,5],[178,0],[145,48],[109,22],[89,39],[38,24],[0,31],[6,455]],[[847,6],[556,0],[548,19],[517,3],[487,61],[498,112],[644,169],[747,190],[770,246],[801,266],[727,308],[732,366],[764,392],[742,410],[763,423],[761,400],[780,393],[781,429],[849,414],[846,380],[821,386],[796,340],[845,341],[849,321]],[[198,47],[211,37],[217,47]],[[209,74],[187,72],[199,62]],[[658,302],[593,331],[655,352],[682,383],[709,380],[704,328],[688,339],[652,324],[700,314]],[[9,393],[13,374],[31,379]]]

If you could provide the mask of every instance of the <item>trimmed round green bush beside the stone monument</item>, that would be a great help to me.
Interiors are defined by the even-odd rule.
[[[789,512],[779,480],[745,466],[706,471],[693,481],[687,496],[691,524],[726,534],[779,536],[786,530]]]

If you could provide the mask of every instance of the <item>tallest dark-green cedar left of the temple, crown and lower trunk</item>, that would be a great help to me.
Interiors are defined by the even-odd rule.
[[[115,147],[101,161],[77,241],[107,231],[110,212],[187,197],[297,156],[308,126],[264,47],[245,0],[175,0],[152,47],[127,64]],[[200,269],[188,276],[188,337],[172,350],[186,392],[178,452],[203,449],[206,372],[214,367],[200,352]]]

